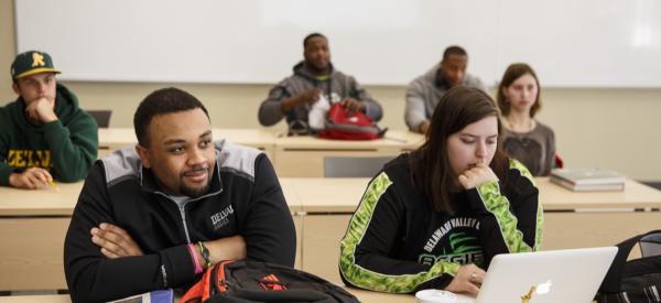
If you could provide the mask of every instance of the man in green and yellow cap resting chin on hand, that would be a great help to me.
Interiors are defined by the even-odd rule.
[[[2,186],[35,190],[53,180],[79,181],[97,158],[96,121],[55,74],[43,52],[21,53],[11,65],[19,98],[0,108]]]

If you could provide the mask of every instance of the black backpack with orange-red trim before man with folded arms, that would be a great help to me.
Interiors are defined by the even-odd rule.
[[[182,303],[357,303],[356,296],[314,274],[257,261],[225,261],[208,268]]]

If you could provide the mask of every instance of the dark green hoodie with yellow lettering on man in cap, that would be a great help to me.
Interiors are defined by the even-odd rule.
[[[9,175],[33,166],[48,170],[61,182],[87,176],[97,158],[98,127],[89,113],[78,107],[78,98],[57,85],[57,120],[34,125],[25,117],[25,101],[0,108],[0,185],[9,185]]]

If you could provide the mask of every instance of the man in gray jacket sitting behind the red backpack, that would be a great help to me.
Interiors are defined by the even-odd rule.
[[[354,77],[334,68],[326,36],[308,34],[303,40],[303,56],[305,59],[294,66],[294,74],[275,85],[261,104],[258,115],[262,126],[275,125],[285,117],[290,132],[306,133],[310,131],[307,116],[319,99],[342,102],[373,121],[381,119],[381,106]],[[325,98],[321,98],[322,94]]]

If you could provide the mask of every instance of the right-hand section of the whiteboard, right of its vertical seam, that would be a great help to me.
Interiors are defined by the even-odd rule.
[[[528,62],[542,85],[661,87],[661,1],[502,0],[498,75]]]

